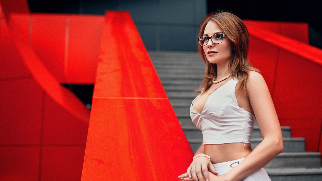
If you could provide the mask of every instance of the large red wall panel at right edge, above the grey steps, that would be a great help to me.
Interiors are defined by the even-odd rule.
[[[322,66],[281,50],[274,103],[283,126],[293,137],[305,136],[306,150],[317,151],[321,128]]]

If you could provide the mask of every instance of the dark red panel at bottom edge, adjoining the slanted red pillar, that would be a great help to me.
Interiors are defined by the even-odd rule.
[[[85,147],[44,147],[42,181],[81,180]]]

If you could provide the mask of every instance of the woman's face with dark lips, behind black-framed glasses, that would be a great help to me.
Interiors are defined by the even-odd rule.
[[[224,33],[217,23],[209,21],[204,29],[203,36],[212,36],[214,34]],[[214,36],[215,37],[215,36]],[[204,53],[209,63],[226,64],[232,56],[232,42],[226,37],[223,37],[223,42],[214,44],[210,39],[208,44],[203,46]]]

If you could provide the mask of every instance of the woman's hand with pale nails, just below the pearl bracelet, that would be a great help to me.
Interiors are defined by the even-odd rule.
[[[179,178],[181,180],[209,181],[209,175],[211,173],[208,170],[211,171],[212,175],[218,174],[207,157],[196,157],[188,167],[187,172],[179,176]]]

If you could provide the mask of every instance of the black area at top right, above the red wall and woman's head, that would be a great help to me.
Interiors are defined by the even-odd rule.
[[[310,44],[322,48],[322,1],[209,1],[208,13],[217,9],[234,12],[241,19],[307,22]]]

